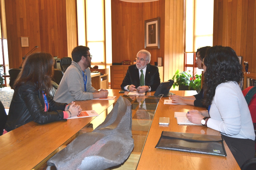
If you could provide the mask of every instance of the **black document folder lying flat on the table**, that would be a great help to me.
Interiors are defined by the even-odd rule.
[[[227,156],[222,136],[163,131],[155,148]]]

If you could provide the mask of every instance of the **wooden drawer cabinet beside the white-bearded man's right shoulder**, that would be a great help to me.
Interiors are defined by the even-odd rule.
[[[111,89],[121,89],[126,71],[129,66],[110,66]]]

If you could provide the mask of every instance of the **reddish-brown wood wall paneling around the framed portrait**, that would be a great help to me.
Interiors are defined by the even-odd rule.
[[[161,48],[161,45],[164,45],[162,34],[164,28],[161,27],[164,16],[161,11],[164,8],[160,8],[163,2],[163,0],[147,3],[111,1],[112,40],[116,40],[112,41],[112,62],[135,60],[137,52],[144,49],[144,21],[156,17],[160,17],[161,44],[160,49],[148,49],[151,53],[151,64],[157,61],[157,57],[163,57],[161,54],[164,54],[164,48]]]

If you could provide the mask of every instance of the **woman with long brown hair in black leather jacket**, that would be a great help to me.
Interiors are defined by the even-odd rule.
[[[14,83],[14,95],[4,133],[30,121],[46,124],[81,113],[81,107],[74,102],[71,105],[58,103],[47,95],[52,88],[54,62],[48,53],[34,53],[26,58]]]

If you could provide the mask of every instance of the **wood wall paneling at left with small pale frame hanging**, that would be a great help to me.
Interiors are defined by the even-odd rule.
[[[77,26],[73,21],[75,1],[69,1],[72,2],[69,7],[70,41],[74,45],[77,44]],[[9,68],[18,68],[22,57],[35,46],[39,46],[35,52],[68,56],[66,0],[5,0],[5,9]],[[29,47],[21,47],[21,36],[29,37]]]

